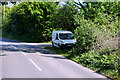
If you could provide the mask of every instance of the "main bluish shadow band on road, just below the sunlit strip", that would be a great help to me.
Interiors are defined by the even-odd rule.
[[[25,53],[37,53],[41,52],[43,54],[51,54],[49,51],[43,49],[45,46],[50,45],[29,45],[28,44],[2,44],[3,51],[22,51]]]

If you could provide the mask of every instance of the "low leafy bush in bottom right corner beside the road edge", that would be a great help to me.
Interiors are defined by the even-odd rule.
[[[106,48],[98,51],[91,50],[81,54],[79,62],[84,66],[94,69],[96,72],[118,78],[119,56],[117,49]]]

